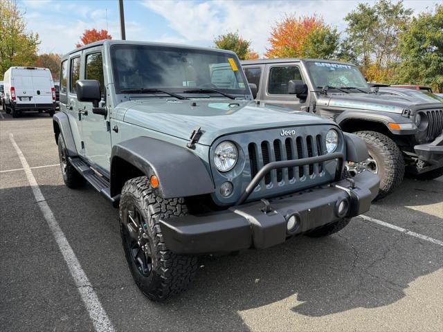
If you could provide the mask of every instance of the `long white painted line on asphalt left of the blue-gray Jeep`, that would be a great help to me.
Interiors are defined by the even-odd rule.
[[[80,262],[75,256],[75,253],[69,245],[68,240],[64,236],[62,228],[60,228],[57,220],[55,220],[55,216],[51,211],[51,208],[49,208],[48,203],[46,203],[42,191],[37,185],[37,181],[35,181],[33,172],[31,171],[24,154],[21,152],[19,146],[15,142],[12,133],[9,134],[9,139],[12,142],[15,151],[19,155],[21,165],[23,166],[23,169],[26,173],[29,185],[33,190],[35,200],[37,201],[37,204],[39,205],[39,208],[43,213],[44,219],[46,219],[46,222],[48,223],[49,229],[53,233],[60,252],[62,252],[63,258],[66,261],[69,271],[71,272],[71,275],[74,279],[75,286],[77,286],[78,291],[80,292],[80,296],[82,297],[84,305],[86,306],[89,313],[89,317],[91,317],[94,328],[98,332],[113,332],[114,326],[109,320],[109,317],[107,316],[105,309],[102,307],[102,304],[100,304],[100,300],[98,299],[96,292],[93,291],[93,287],[89,282],[86,273],[84,273],[82,266],[80,266]]]

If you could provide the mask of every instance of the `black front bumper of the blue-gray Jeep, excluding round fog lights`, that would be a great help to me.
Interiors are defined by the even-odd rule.
[[[264,203],[253,202],[221,212],[161,220],[160,227],[168,248],[179,254],[268,248],[284,242],[289,235],[368,211],[379,192],[379,182],[377,175],[362,172],[352,181],[338,181],[269,199],[269,212],[264,212]],[[341,201],[348,206],[345,214],[338,213]],[[297,226],[288,231],[287,221],[291,216],[296,217]]]

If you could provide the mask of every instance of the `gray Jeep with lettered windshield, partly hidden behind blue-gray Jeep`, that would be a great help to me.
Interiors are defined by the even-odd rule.
[[[443,175],[443,104],[370,89],[354,64],[321,59],[264,59],[242,62],[256,100],[330,118],[343,131],[365,140],[370,158],[347,163],[357,174],[375,172],[377,198],[403,181],[406,172],[421,179]],[[254,91],[253,91],[254,92]],[[425,97],[425,95],[423,95]]]

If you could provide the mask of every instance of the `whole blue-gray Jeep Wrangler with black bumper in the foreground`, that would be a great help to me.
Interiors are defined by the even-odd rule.
[[[228,71],[226,70],[228,68]],[[330,120],[258,106],[235,53],[105,41],[62,58],[55,140],[64,182],[120,208],[143,294],[185,290],[197,256],[322,237],[366,212],[379,178]]]

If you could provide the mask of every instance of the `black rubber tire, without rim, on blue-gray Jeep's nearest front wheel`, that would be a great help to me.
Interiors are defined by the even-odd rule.
[[[146,222],[148,241],[152,255],[152,270],[143,275],[137,268],[130,252],[123,221],[125,209],[135,206]],[[141,292],[152,301],[163,301],[186,291],[197,273],[197,257],[177,255],[168,249],[163,239],[159,219],[184,216],[188,208],[183,199],[162,199],[154,194],[147,176],[132,178],[122,189],[120,198],[120,234],[123,250],[134,282]]]

